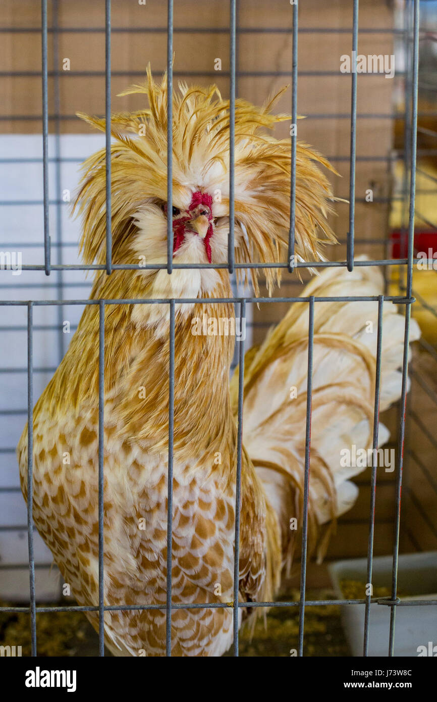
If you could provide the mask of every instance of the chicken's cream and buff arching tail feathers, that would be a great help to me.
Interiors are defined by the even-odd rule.
[[[325,269],[302,297],[379,296],[375,267]],[[382,308],[380,411],[401,395],[405,319],[396,306]],[[358,496],[351,478],[370,465],[375,402],[377,301],[334,300],[314,305],[309,534],[349,510]],[[283,562],[290,564],[302,522],[307,405],[308,303],[294,303],[264,343],[245,358],[243,442],[281,524]],[[410,341],[419,338],[411,320]],[[234,407],[238,373],[231,382]],[[268,401],[267,401],[268,400]],[[379,423],[378,446],[389,440]],[[355,447],[355,449],[354,449]],[[361,449],[360,460],[354,450]],[[348,454],[349,451],[349,460]],[[365,459],[363,453],[365,452]],[[293,522],[293,519],[296,522]],[[291,521],[290,521],[291,520]],[[318,537],[323,555],[332,528]]]

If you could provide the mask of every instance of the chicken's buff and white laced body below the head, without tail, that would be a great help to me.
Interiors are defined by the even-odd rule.
[[[231,295],[231,290],[223,290]],[[198,309],[196,309],[196,307]],[[194,314],[231,317],[231,305],[196,305]],[[108,309],[105,355],[113,338],[111,312],[128,371],[105,392],[105,604],[166,604],[168,476],[168,337],[153,338]],[[126,324],[123,328],[123,323]],[[196,340],[194,345],[188,340]],[[128,347],[126,347],[126,343]],[[189,320],[175,327],[175,431],[173,463],[172,600],[229,602],[233,598],[236,427],[231,413],[229,366],[234,340],[191,335]],[[53,552],[64,582],[80,604],[98,604],[98,388],[72,411],[71,377],[81,350],[83,368],[98,366],[98,307],[88,307],[64,361],[34,412],[34,520]],[[186,371],[194,382],[186,382]],[[79,376],[78,381],[79,381]],[[146,399],[139,398],[141,389]],[[128,397],[135,411],[126,417]],[[57,398],[57,402],[54,398]],[[53,403],[56,411],[53,412]],[[213,408],[214,421],[211,418]],[[26,437],[19,461],[26,495]],[[68,460],[65,461],[65,457]],[[273,596],[266,574],[264,494],[243,454],[241,597]],[[276,522],[271,538],[276,539]],[[270,527],[272,528],[272,527]],[[271,555],[269,554],[269,558]],[[273,564],[276,574],[280,564]],[[272,566],[270,565],[270,568]],[[90,614],[98,626],[98,615]],[[229,609],[175,609],[173,656],[218,656],[232,640]],[[166,611],[105,613],[105,640],[118,655],[162,656]]]

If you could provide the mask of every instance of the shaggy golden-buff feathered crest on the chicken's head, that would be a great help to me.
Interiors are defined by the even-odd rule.
[[[217,86],[179,84],[173,93],[173,204],[183,207],[190,187],[213,194],[217,217],[229,214],[229,100]],[[283,88],[262,107],[238,98],[235,110],[236,262],[275,263],[286,260],[290,218],[290,139],[265,133],[288,114],[271,114]],[[147,67],[147,81],[121,95],[145,93],[149,107],[112,115],[112,232],[114,263],[131,263],[129,235],[133,216],[144,202],[166,201],[167,194],[167,76],[161,84]],[[78,113],[79,114],[79,113]],[[105,131],[105,119],[79,114]],[[332,191],[319,165],[336,171],[321,154],[297,143],[296,254],[320,260],[323,241],[335,236],[327,216]],[[81,250],[87,263],[105,260],[105,150],[84,164],[77,202],[83,213]],[[76,204],[77,204],[76,202]],[[214,263],[214,262],[213,262]],[[249,273],[257,292],[257,272]],[[264,270],[269,290],[278,282],[274,269]]]

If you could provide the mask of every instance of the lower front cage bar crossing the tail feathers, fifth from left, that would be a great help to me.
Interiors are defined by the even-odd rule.
[[[309,298],[307,420],[305,426],[304,518],[302,521],[302,555],[300,559],[299,645],[298,656],[304,651],[305,585],[307,582],[309,457],[311,453],[311,400],[313,392],[314,295]]]

